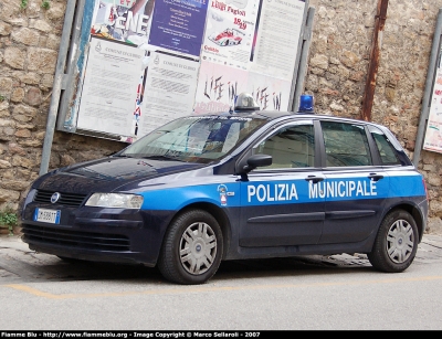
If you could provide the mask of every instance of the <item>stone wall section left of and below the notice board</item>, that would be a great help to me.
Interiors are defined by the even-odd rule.
[[[66,1],[0,2],[0,211],[19,209],[40,172]],[[50,170],[108,155],[122,142],[55,133]]]

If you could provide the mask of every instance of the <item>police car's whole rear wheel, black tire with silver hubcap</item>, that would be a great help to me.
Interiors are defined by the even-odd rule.
[[[403,210],[390,212],[379,227],[368,259],[381,272],[403,272],[414,259],[418,239],[418,226],[410,213]]]

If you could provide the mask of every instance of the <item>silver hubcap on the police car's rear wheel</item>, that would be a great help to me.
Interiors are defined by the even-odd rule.
[[[413,252],[414,233],[406,220],[396,221],[387,234],[387,253],[392,262],[404,263]]]

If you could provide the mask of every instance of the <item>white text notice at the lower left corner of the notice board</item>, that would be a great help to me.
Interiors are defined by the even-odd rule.
[[[77,128],[129,136],[145,51],[92,38]]]

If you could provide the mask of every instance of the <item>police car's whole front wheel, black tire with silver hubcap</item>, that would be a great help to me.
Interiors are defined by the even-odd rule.
[[[223,253],[223,236],[217,220],[202,210],[180,214],[166,232],[158,268],[169,282],[196,285],[217,272]]]

